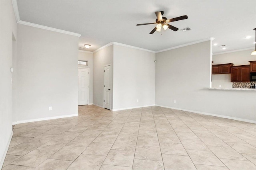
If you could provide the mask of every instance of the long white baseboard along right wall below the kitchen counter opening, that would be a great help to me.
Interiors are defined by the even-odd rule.
[[[225,115],[216,115],[216,114],[206,113],[206,112],[202,112],[202,111],[194,111],[194,110],[188,110],[188,109],[181,109],[181,108],[177,108],[177,107],[162,106],[162,105],[158,105],[158,104],[156,104],[156,106],[166,107],[166,108],[176,109],[176,110],[189,111],[189,112],[194,112],[194,113],[203,114],[203,115],[222,117],[222,118],[226,118],[226,119],[233,119],[233,120],[238,120],[238,121],[244,121],[244,122],[249,122],[249,123],[256,123],[256,121],[254,121],[254,120],[242,119],[242,118],[238,118],[238,117],[231,117],[231,116],[225,116]]]

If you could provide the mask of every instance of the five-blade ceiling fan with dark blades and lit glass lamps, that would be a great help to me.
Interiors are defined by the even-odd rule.
[[[168,24],[169,22],[174,22],[174,21],[179,21],[179,20],[185,20],[188,19],[188,16],[180,16],[177,18],[172,18],[172,19],[168,19],[166,17],[163,17],[162,15],[164,14],[163,11],[160,12],[155,12],[156,14],[156,22],[152,22],[152,23],[141,23],[141,24],[137,24],[137,25],[149,25],[149,24],[157,24],[156,27],[149,33],[152,34],[155,31],[160,32],[161,28],[163,27],[164,30],[166,30],[167,28],[172,29],[173,31],[178,31],[178,28]]]

